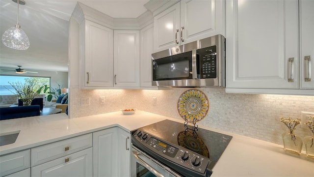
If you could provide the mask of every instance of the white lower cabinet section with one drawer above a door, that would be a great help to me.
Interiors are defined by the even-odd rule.
[[[92,145],[92,133],[90,133],[31,148],[31,176],[93,176]]]

